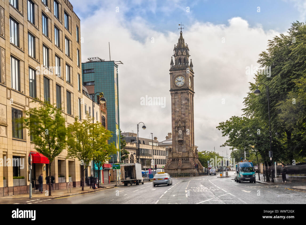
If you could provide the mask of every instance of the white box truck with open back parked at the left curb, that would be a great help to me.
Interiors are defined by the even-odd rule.
[[[144,184],[144,178],[141,174],[141,165],[139,163],[124,163],[120,165],[121,183],[124,186],[129,184]]]

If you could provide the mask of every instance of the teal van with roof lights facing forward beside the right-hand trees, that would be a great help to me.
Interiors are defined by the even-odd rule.
[[[256,182],[255,170],[251,161],[240,161],[237,164],[235,181],[239,183],[241,181]]]

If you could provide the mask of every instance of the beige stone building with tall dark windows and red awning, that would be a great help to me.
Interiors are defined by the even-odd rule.
[[[0,196],[29,192],[28,156],[34,144],[14,118],[38,106],[35,98],[61,109],[67,126],[84,111],[80,56],[80,19],[68,0],[0,2],[0,159],[24,162],[0,166]],[[80,186],[80,162],[66,155],[64,150],[51,165],[53,189],[66,188],[69,181]],[[42,173],[45,184],[49,164],[43,157],[35,160],[32,183],[38,184]]]

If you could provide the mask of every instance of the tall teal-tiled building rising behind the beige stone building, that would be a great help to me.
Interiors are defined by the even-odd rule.
[[[82,82],[84,86],[93,85],[96,92],[103,92],[107,107],[107,129],[112,131],[114,142],[118,148],[117,155],[113,155],[110,163],[120,161],[120,119],[119,119],[119,91],[118,65],[114,61],[104,61],[100,58],[89,58],[82,63]],[[98,94],[97,94],[98,95]],[[92,95],[91,95],[92,98]],[[98,97],[95,96],[95,102]]]

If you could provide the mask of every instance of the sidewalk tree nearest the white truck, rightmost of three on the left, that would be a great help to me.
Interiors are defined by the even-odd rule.
[[[110,154],[115,154],[117,148],[113,143],[108,144],[108,140],[112,137],[111,131],[106,130],[101,123],[96,122],[91,124],[91,146],[94,150],[95,165],[98,171],[106,161],[110,159]],[[100,180],[100,173],[98,173],[98,180]],[[100,187],[100,183],[98,183]]]

